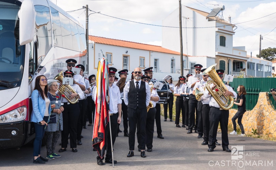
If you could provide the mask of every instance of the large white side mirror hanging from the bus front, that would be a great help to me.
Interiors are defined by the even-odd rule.
[[[32,0],[22,2],[18,12],[19,17],[19,43],[25,45],[33,40],[35,25],[35,9]]]

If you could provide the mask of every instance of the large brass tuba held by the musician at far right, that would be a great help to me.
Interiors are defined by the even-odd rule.
[[[219,104],[219,107],[221,107],[224,110],[229,110],[233,107],[234,104],[234,98],[232,96],[225,96],[224,92],[226,92],[228,89],[224,85],[224,83],[219,78],[219,75],[215,71],[215,66],[217,64],[214,64],[207,68],[202,75],[208,75],[212,80],[208,80],[206,83],[206,89],[209,91],[209,93],[212,95],[212,97],[215,99],[215,101]],[[210,88],[210,84],[213,83],[216,85],[215,92]]]

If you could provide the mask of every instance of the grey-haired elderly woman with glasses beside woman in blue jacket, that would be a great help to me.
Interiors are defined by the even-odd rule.
[[[48,83],[48,97],[51,101],[51,104],[55,104],[56,107],[53,109],[53,113],[50,115],[50,121],[45,130],[47,132],[47,159],[55,159],[61,157],[60,155],[55,153],[55,148],[60,133],[63,130],[62,111],[64,110],[64,108],[61,106],[60,96],[56,94],[57,88],[58,84],[56,81]]]

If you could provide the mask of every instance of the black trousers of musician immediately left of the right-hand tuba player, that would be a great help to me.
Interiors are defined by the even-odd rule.
[[[202,105],[203,140],[207,143],[209,141],[209,130],[210,130],[209,112],[210,112],[209,104],[203,104]]]

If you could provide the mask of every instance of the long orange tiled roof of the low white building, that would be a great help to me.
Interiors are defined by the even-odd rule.
[[[94,41],[96,43],[100,43],[100,44],[107,44],[107,45],[114,45],[114,46],[119,46],[119,47],[128,47],[128,48],[135,48],[135,49],[140,49],[140,50],[180,55],[179,52],[172,51],[172,50],[163,48],[161,46],[143,44],[143,43],[138,43],[138,42],[117,40],[117,39],[104,38],[104,37],[96,37],[96,36],[91,36],[91,35],[89,35],[89,40]],[[186,54],[183,54],[183,55],[186,56]]]

